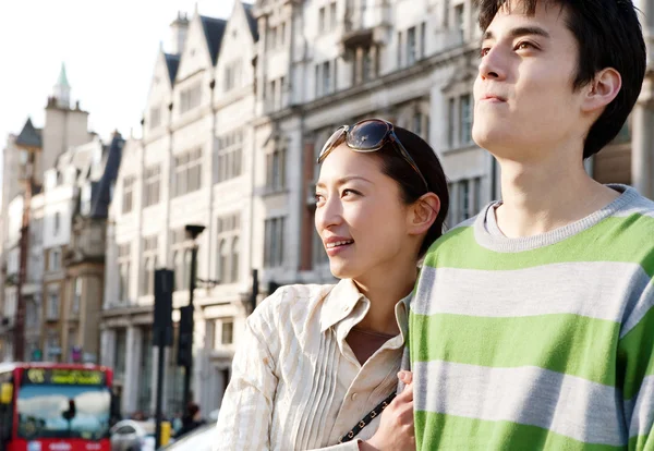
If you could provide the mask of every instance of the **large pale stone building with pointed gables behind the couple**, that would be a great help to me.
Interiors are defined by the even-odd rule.
[[[334,280],[313,193],[317,153],[339,125],[379,117],[423,136],[449,179],[450,226],[500,197],[497,164],[471,136],[475,19],[472,0],[259,0],[237,1],[228,21],[196,11],[171,24],[109,215],[102,362],[117,368],[123,414],[154,411],[153,273],[174,269],[178,321],[189,302],[185,224],[206,227],[198,277],[213,281],[195,292],[193,393],[204,412],[219,407],[229,380],[252,270],[262,296]],[[586,168],[654,197],[650,84],[649,72],[632,118]],[[174,348],[166,358],[174,413]]]

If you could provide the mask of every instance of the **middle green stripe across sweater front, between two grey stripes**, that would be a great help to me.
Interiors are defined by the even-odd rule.
[[[537,366],[616,386],[620,325],[572,314],[511,318],[410,315],[413,362]]]

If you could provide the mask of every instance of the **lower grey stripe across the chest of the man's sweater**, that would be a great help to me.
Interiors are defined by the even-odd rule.
[[[531,366],[414,365],[419,411],[532,425],[582,442],[627,444],[621,402],[611,387]]]

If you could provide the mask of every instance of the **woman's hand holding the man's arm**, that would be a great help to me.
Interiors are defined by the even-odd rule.
[[[411,371],[400,371],[398,378],[405,385],[404,390],[384,410],[379,428],[370,440],[359,443],[360,450],[415,450],[413,375]]]

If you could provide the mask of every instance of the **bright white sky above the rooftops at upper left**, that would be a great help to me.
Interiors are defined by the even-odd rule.
[[[234,0],[0,0],[0,149],[44,107],[65,62],[74,105],[107,138],[140,135],[159,42],[178,11],[227,19]]]

